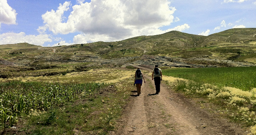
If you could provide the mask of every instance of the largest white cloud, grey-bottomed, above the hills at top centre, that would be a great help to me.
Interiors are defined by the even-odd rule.
[[[82,1],[77,0],[78,3]],[[58,10],[43,14],[45,25],[38,27],[38,32],[82,32],[83,34],[74,37],[74,42],[122,40],[137,35],[149,35],[152,32],[164,33],[159,27],[179,20],[178,17],[174,19],[173,13],[176,9],[170,7],[169,0],[92,0],[90,3],[74,5],[64,22],[64,12],[70,6],[70,2],[65,2],[59,5]],[[185,25],[183,28],[179,27],[180,30],[184,28],[188,29]],[[80,36],[83,40],[78,39]]]

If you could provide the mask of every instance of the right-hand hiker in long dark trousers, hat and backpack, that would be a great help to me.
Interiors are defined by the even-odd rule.
[[[162,81],[162,71],[160,68],[158,68],[158,65],[155,66],[153,72],[152,72],[152,80],[155,82],[156,86],[156,94],[159,94],[160,92],[160,83]]]

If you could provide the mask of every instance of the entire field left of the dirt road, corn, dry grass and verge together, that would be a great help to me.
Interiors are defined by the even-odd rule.
[[[127,95],[134,89],[132,76],[131,70],[105,68],[1,79],[0,132],[73,135],[79,130],[80,134],[106,134],[114,129]]]

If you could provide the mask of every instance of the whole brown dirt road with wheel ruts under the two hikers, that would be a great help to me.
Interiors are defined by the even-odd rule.
[[[154,95],[154,81],[151,76],[144,76],[146,83],[142,85],[142,94],[136,96],[136,87],[131,91],[131,102],[118,122],[118,130],[111,135],[247,134],[239,125],[209,113],[163,82],[159,95]]]

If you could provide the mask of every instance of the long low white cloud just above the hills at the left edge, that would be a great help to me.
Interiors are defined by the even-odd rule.
[[[16,44],[27,42],[29,44],[35,44],[43,46],[45,42],[52,42],[47,34],[40,35],[26,35],[24,32],[20,33],[3,33],[0,34],[0,44]]]

